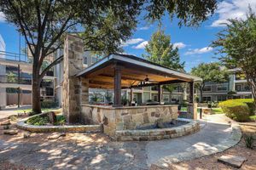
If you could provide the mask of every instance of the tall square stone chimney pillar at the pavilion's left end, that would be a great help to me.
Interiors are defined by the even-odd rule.
[[[78,77],[75,77],[75,74],[83,69],[83,47],[83,41],[79,37],[67,35],[64,42],[62,90],[62,108],[67,122],[79,122],[81,82]]]

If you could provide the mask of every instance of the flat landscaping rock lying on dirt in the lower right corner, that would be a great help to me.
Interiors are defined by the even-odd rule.
[[[218,158],[219,162],[230,165],[231,167],[240,168],[244,161],[247,161],[245,157],[242,156],[220,156]]]

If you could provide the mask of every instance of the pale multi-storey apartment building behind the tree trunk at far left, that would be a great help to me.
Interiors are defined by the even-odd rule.
[[[4,44],[2,37],[0,41]],[[32,57],[29,54],[15,54],[3,49],[0,49],[0,106],[3,108],[6,105],[31,105]],[[47,62],[50,63],[53,57],[49,56]],[[42,100],[55,100],[55,79],[53,68],[46,73],[40,85]]]

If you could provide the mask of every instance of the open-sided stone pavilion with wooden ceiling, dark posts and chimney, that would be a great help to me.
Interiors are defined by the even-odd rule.
[[[178,82],[189,83],[187,115],[196,119],[194,82],[201,81],[201,78],[127,54],[110,54],[84,68],[83,55],[83,40],[67,35],[62,87],[62,108],[67,122],[102,123],[103,132],[115,136],[118,130],[136,129],[158,120],[176,120],[177,105],[164,105],[161,102],[160,86]],[[148,86],[159,86],[159,105],[122,105],[122,88],[130,88],[132,94],[132,88]],[[113,105],[90,105],[89,88],[113,89]]]

